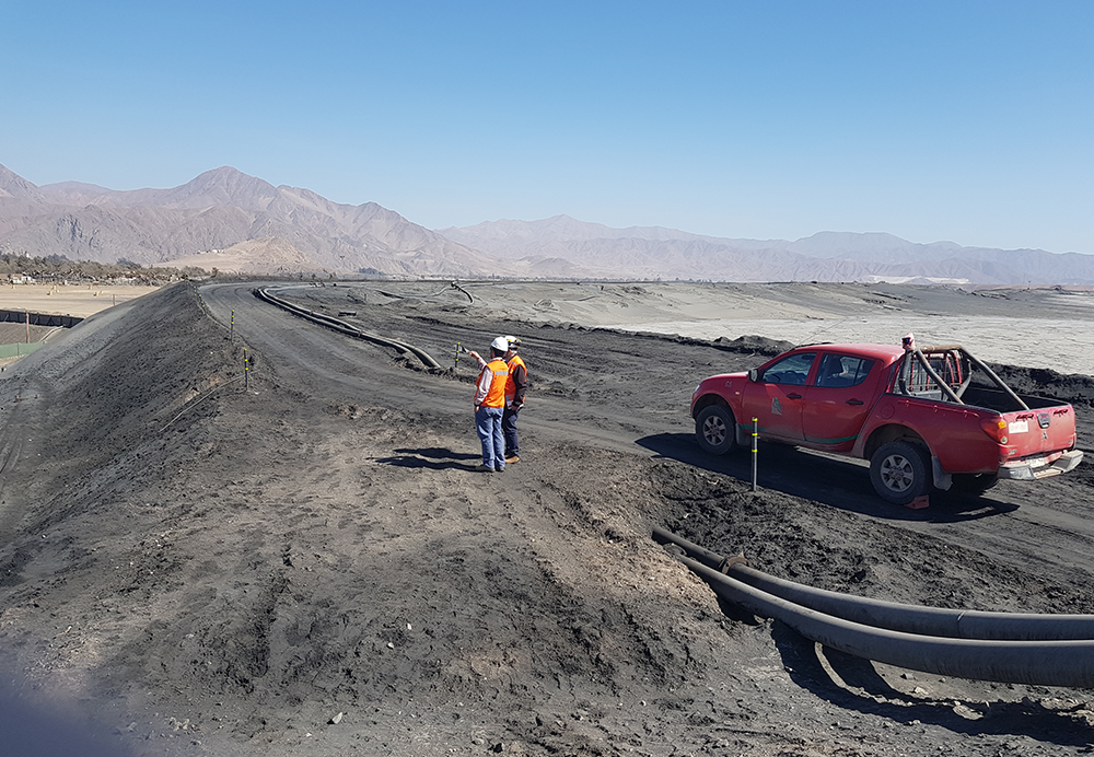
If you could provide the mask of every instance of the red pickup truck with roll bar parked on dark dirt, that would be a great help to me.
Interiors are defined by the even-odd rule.
[[[869,459],[874,489],[896,504],[1079,465],[1071,405],[1015,394],[959,345],[904,342],[799,347],[706,378],[691,396],[696,438],[722,454],[755,419],[761,439]]]

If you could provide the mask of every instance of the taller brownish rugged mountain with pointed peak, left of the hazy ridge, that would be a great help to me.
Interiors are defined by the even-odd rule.
[[[2,253],[163,264],[267,238],[301,253],[309,270],[456,277],[497,271],[481,253],[375,202],[338,205],[231,167],[171,189],[116,191],[78,182],[36,187],[0,166]]]

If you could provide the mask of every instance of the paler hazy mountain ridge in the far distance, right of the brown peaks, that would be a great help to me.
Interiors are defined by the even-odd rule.
[[[610,229],[568,216],[439,230],[502,258],[580,261],[596,276],[714,281],[916,281],[1094,284],[1094,255],[917,244],[893,234],[819,232],[794,242]]]

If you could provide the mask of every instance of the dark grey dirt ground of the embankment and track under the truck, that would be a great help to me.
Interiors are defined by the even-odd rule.
[[[0,378],[0,653],[18,707],[47,713],[50,734],[228,756],[1094,743],[1086,691],[817,649],[721,607],[650,539],[663,525],[865,596],[1094,613],[1087,464],[912,511],[878,500],[859,465],[765,446],[753,493],[746,459],[699,453],[687,400],[770,340],[582,328],[531,284],[283,292],[444,365],[456,341],[521,336],[522,462],[476,474],[473,366],[424,372],[259,303],[253,286],[167,288]],[[639,289],[605,296],[659,294]],[[1089,377],[1008,374],[1076,401],[1086,443]]]

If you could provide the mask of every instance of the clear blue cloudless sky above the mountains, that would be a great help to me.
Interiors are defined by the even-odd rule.
[[[1094,253],[1094,2],[0,3],[0,164]]]

